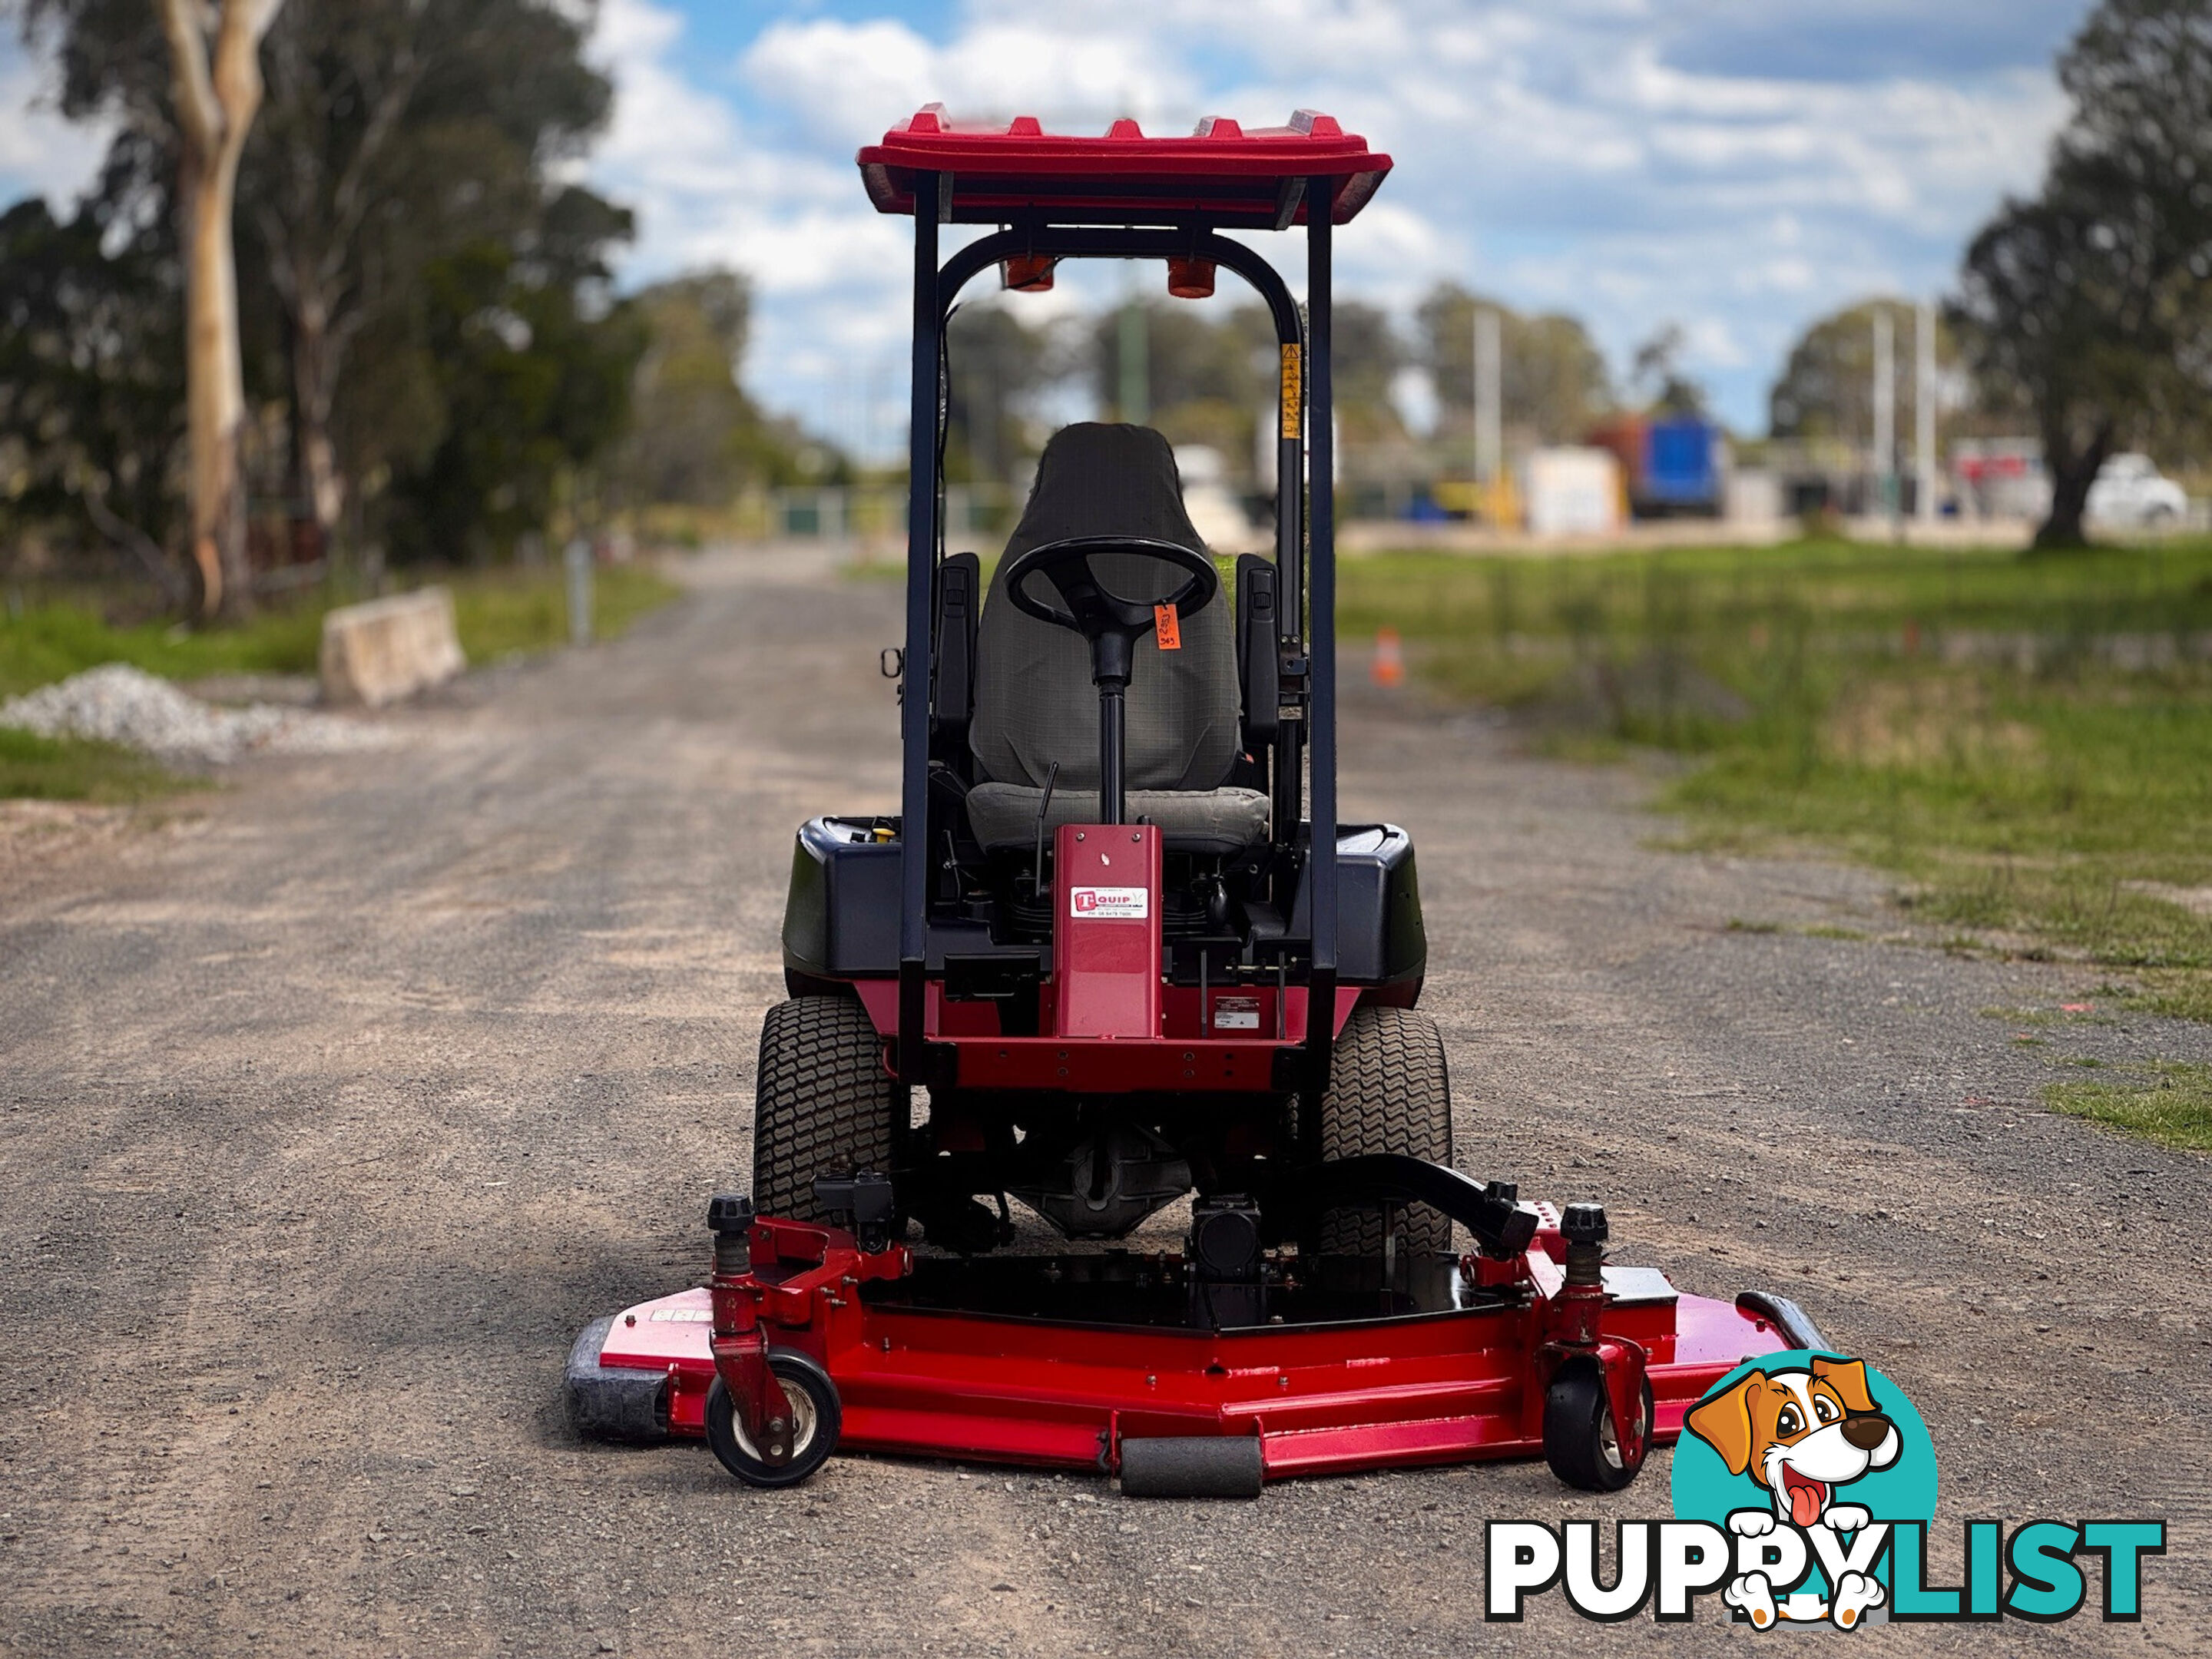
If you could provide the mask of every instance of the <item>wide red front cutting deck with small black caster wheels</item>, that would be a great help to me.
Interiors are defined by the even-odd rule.
[[[586,1431],[703,1436],[761,1486],[845,1447],[1221,1498],[1544,1453],[1568,1484],[1610,1491],[1734,1365],[1823,1345],[1778,1298],[1683,1296],[1650,1267],[1590,1283],[1595,1206],[1571,1208],[1575,1241],[1548,1206],[1528,1214],[1506,1261],[1307,1261],[1201,1210],[1188,1252],[964,1263],[719,1201],[723,1272],[591,1325],[568,1389]]]

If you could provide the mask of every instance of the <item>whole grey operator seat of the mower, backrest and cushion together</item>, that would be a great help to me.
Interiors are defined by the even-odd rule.
[[[1060,761],[1046,830],[1097,823],[1099,695],[1082,637],[1024,615],[1006,597],[1015,557],[1068,535],[1146,535],[1203,553],[1183,511],[1175,451],[1150,427],[1062,427],[1037,458],[1022,522],[1006,542],[975,637],[969,752],[978,783],[967,810],[987,849],[1029,847],[1044,781]],[[1133,553],[1097,560],[1128,599],[1164,599],[1186,573]],[[1040,593],[1051,584],[1029,577]],[[1137,641],[1128,684],[1124,816],[1157,823],[1168,852],[1234,854],[1267,841],[1267,796],[1223,787],[1243,741],[1228,593],[1186,619],[1181,650],[1157,633]]]

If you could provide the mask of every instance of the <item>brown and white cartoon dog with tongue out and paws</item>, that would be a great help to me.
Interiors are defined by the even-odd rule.
[[[1874,1469],[1898,1460],[1898,1427],[1874,1405],[1867,1367],[1860,1360],[1814,1356],[1805,1369],[1747,1371],[1734,1387],[1703,1400],[1686,1418],[1699,1440],[1721,1453],[1732,1475],[1750,1475],[1767,1489],[1772,1509],[1739,1509],[1728,1526],[1739,1537],[1765,1537],[1794,1526],[1812,1540],[1823,1562],[1838,1533],[1860,1533],[1871,1515],[1858,1504],[1836,1502],[1836,1491]],[[1798,1551],[1803,1559],[1803,1551]],[[1801,1573],[1803,1575],[1803,1573]],[[1858,1568],[1832,1573],[1832,1597],[1816,1593],[1774,1597],[1765,1573],[1739,1573],[1721,1599],[1741,1608],[1761,1630],[1778,1619],[1829,1619],[1851,1628],[1871,1606],[1880,1606],[1880,1579]]]

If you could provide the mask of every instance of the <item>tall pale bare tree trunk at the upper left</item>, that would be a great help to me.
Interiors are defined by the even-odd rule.
[[[281,0],[155,0],[168,35],[184,135],[186,411],[190,416],[192,566],[204,615],[243,615],[246,374],[239,361],[239,270],[232,243],[239,155],[261,106],[261,35]],[[208,31],[212,27],[212,42]]]

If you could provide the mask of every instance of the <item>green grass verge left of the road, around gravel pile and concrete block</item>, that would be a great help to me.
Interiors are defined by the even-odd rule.
[[[436,580],[453,588],[453,624],[471,664],[551,650],[568,639],[568,599],[560,571],[467,571]],[[597,637],[619,637],[677,593],[657,571],[630,564],[597,571]],[[106,661],[135,664],[166,679],[312,675],[330,604],[325,597],[301,597],[250,622],[210,628],[108,622],[88,604],[62,602],[0,613],[0,699]],[[0,801],[142,801],[188,787],[201,783],[113,743],[0,728]]]

